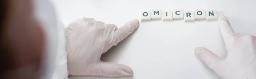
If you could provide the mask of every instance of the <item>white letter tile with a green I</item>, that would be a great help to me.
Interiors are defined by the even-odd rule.
[[[163,10],[162,15],[163,15],[163,20],[173,20],[172,10]]]

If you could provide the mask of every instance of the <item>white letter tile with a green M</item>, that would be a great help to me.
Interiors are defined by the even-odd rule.
[[[161,20],[161,19],[162,19],[161,9],[151,10],[151,20]]]

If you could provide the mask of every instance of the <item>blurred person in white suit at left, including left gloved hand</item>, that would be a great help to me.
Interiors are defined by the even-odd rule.
[[[102,62],[100,56],[133,33],[138,20],[118,29],[81,18],[65,29],[48,0],[1,0],[0,12],[0,79],[133,75],[128,66]]]

